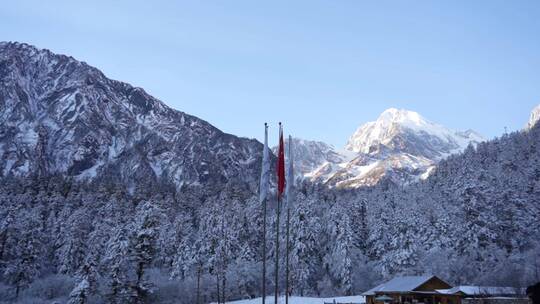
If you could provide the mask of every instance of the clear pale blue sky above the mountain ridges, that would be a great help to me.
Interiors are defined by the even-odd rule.
[[[493,137],[540,103],[540,1],[17,0],[0,40],[259,139],[281,120],[342,147],[389,107]]]

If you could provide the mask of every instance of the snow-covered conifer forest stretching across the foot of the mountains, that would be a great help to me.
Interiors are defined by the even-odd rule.
[[[4,176],[0,186],[0,301],[261,294],[262,208],[248,185],[132,190],[60,175]],[[295,295],[358,294],[396,274],[487,286],[540,280],[540,124],[469,146],[419,183],[339,190],[303,182],[295,193]],[[268,242],[268,261],[284,254],[273,248]]]

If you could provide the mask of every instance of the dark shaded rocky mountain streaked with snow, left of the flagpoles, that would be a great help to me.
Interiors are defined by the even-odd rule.
[[[72,57],[0,43],[0,175],[131,187],[255,181],[262,145],[173,110]]]

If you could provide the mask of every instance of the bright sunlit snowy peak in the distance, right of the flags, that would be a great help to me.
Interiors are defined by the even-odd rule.
[[[441,159],[483,140],[474,131],[452,131],[416,112],[392,108],[358,128],[344,151],[334,150],[345,161],[327,160],[302,173],[337,187],[370,186],[382,178],[410,183],[429,176]]]

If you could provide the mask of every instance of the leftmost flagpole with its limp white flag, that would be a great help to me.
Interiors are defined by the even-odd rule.
[[[262,273],[262,304],[266,302],[266,201],[268,196],[268,180],[270,178],[270,163],[268,159],[268,124],[264,123],[264,148],[261,166],[261,184],[259,187],[259,200],[263,208],[263,273]]]

